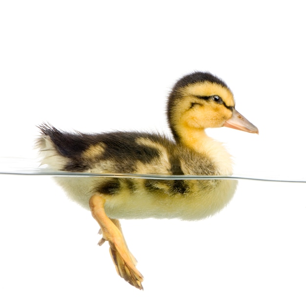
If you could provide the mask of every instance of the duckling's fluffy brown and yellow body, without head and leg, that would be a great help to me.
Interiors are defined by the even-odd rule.
[[[200,154],[164,135],[139,132],[66,133],[41,126],[43,163],[68,172],[94,174],[230,175],[231,158],[222,144],[206,139],[222,152]],[[219,154],[220,155],[220,154]],[[235,180],[164,180],[109,177],[56,177],[67,195],[85,208],[93,193],[107,197],[110,218],[202,219],[224,207]]]

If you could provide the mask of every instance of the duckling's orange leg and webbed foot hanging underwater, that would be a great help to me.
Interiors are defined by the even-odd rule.
[[[128,249],[120,222],[117,219],[109,219],[104,209],[105,202],[106,200],[97,194],[89,199],[92,217],[100,225],[103,234],[98,244],[102,245],[105,241],[109,241],[109,252],[119,276],[136,288],[143,289],[141,284],[143,276],[136,269],[136,260]]]

